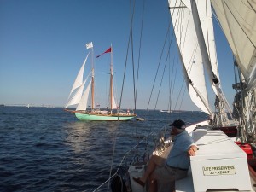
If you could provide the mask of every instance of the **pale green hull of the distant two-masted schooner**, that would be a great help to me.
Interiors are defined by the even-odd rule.
[[[136,117],[135,115],[134,116],[131,116],[131,115],[127,115],[127,116],[111,116],[111,115],[96,115],[96,114],[85,114],[85,113],[75,113],[76,117],[79,119],[79,120],[130,120],[134,117]]]

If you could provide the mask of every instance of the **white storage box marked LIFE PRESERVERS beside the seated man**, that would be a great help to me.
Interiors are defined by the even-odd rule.
[[[190,157],[195,192],[207,189],[252,190],[247,155],[222,131],[195,130],[199,150]]]

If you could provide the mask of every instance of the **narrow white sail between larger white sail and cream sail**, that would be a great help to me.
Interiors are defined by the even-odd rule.
[[[195,23],[195,32],[201,49],[202,60],[207,70],[208,78],[212,84],[212,90],[216,95],[215,108],[217,112],[213,116],[214,126],[230,125],[224,106],[231,114],[231,109],[226,101],[223,91],[220,87],[218,77],[217,54],[214,42],[212,9],[210,0],[198,1],[191,0],[191,12]]]

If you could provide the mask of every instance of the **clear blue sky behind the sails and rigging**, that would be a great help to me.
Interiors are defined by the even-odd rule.
[[[164,70],[166,56],[161,57],[161,51],[170,21],[167,1],[146,0],[144,15],[143,1],[135,5],[131,52],[131,44],[127,48],[131,26],[128,0],[0,0],[0,104],[64,107],[89,53],[85,44],[93,42],[95,55],[113,46],[114,87],[118,102],[122,95],[121,108],[169,108],[168,73],[173,69],[172,108],[200,110],[186,90],[185,96],[180,91],[183,75],[175,44],[168,60],[171,64],[167,65],[171,67]],[[215,21],[214,24],[220,80],[231,105],[235,93],[232,54]],[[108,103],[109,63],[110,54],[95,59],[96,103],[102,107]],[[183,99],[182,105],[178,99]],[[209,100],[213,106],[213,96],[209,95]]]

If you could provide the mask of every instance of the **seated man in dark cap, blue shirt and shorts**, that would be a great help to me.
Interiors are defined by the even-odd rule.
[[[174,136],[174,142],[166,160],[153,155],[143,177],[133,177],[133,180],[143,187],[149,178],[150,192],[157,191],[157,181],[159,183],[172,183],[186,177],[190,166],[189,156],[194,156],[198,150],[189,133],[185,130],[186,125],[183,120],[177,119],[170,126],[172,126],[171,134]]]

